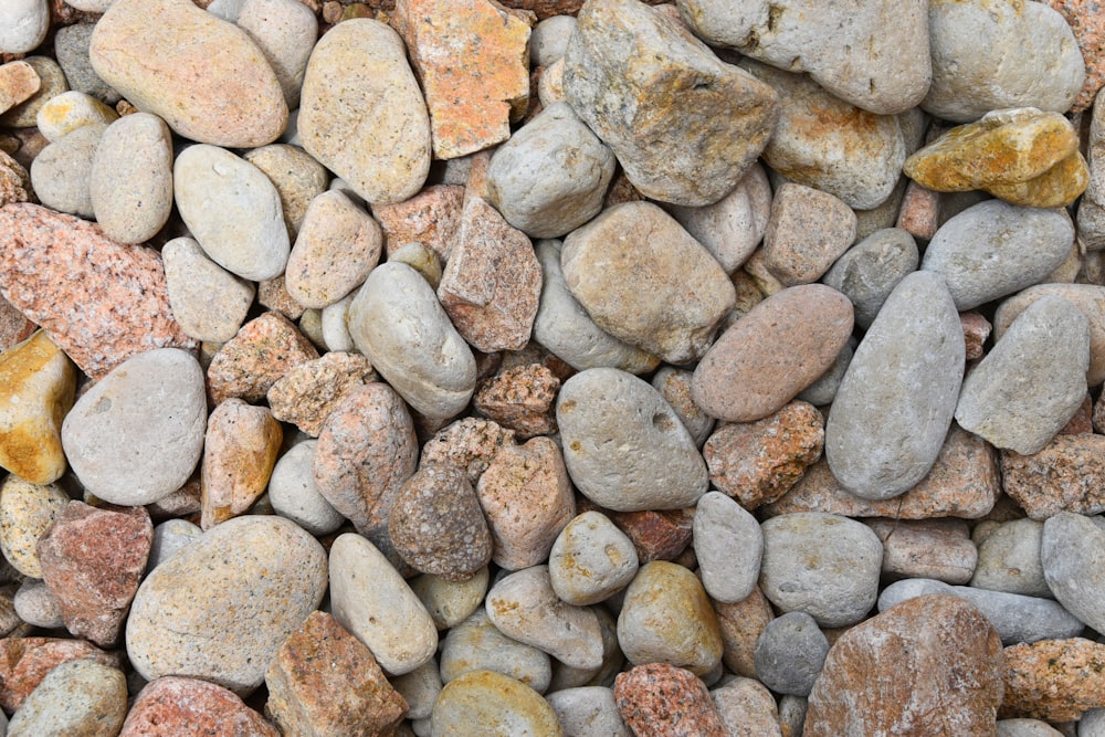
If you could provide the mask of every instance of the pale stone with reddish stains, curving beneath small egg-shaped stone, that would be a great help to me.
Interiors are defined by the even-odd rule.
[[[556,596],[548,566],[533,566],[503,577],[487,592],[485,608],[492,623],[508,638],[543,650],[570,667],[602,665],[598,617]]]

